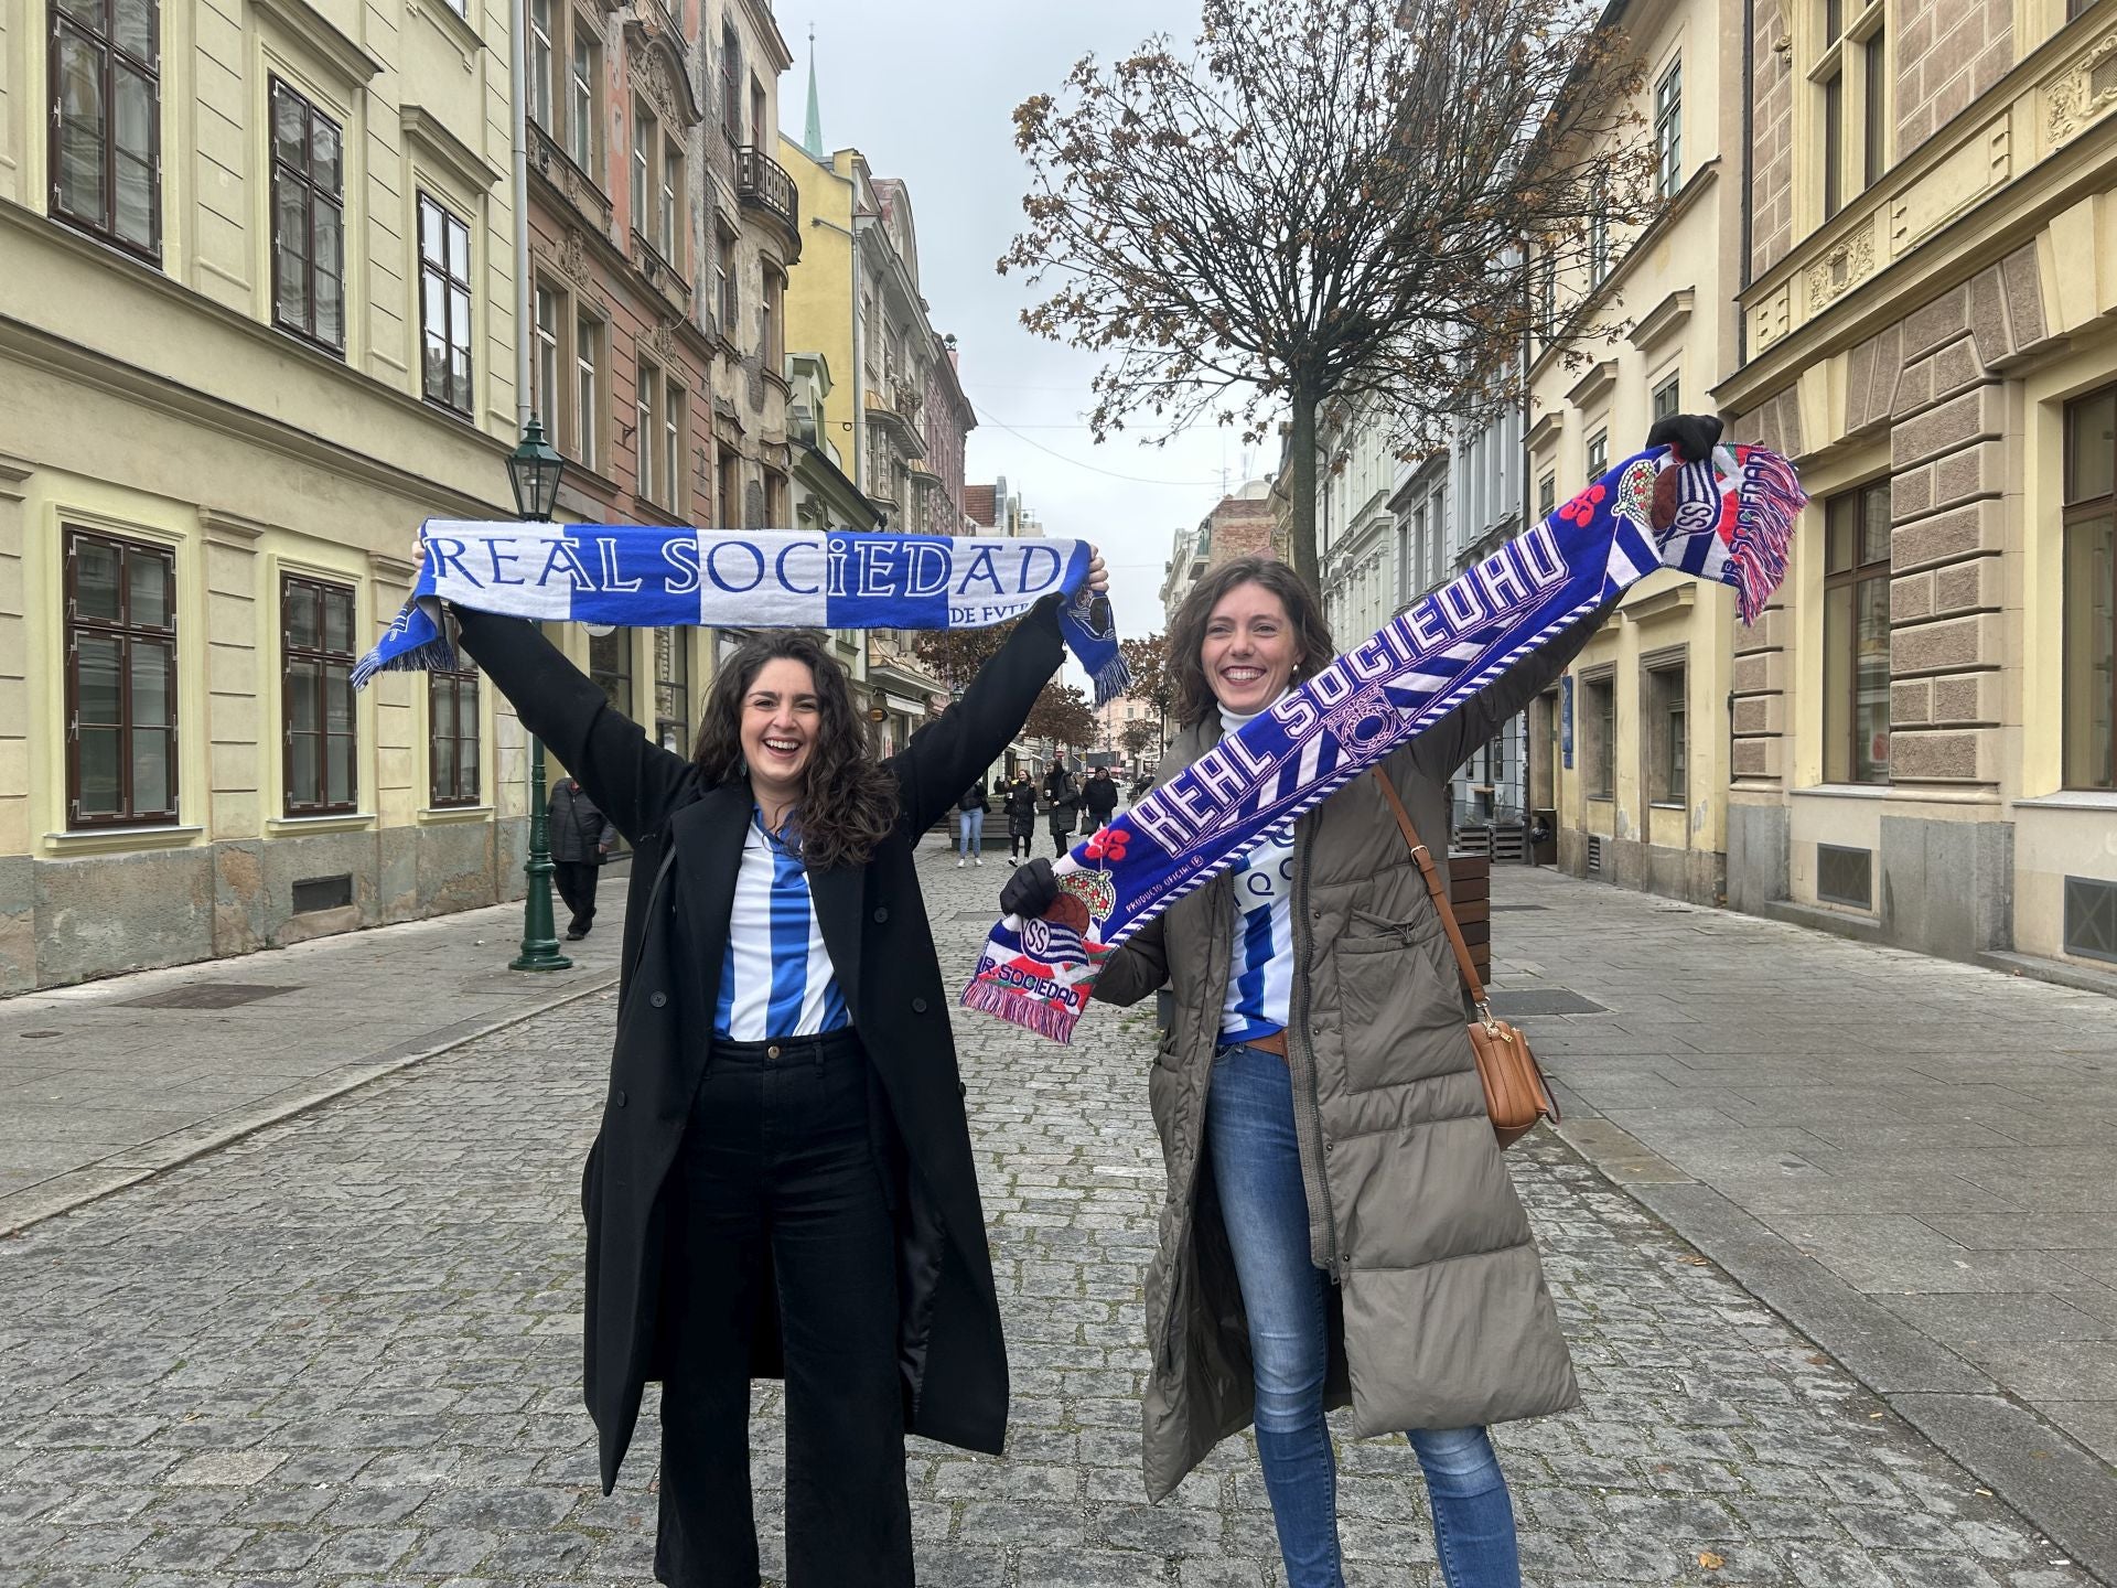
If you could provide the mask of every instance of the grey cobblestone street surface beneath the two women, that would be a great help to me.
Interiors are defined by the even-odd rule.
[[[1003,868],[923,870],[965,966]],[[0,1584],[644,1582],[652,1402],[603,1499],[578,1393],[610,1018],[584,999],[0,1241]],[[959,1037],[1014,1427],[1006,1461],[915,1448],[921,1582],[1277,1584],[1247,1442],[1141,1495],[1141,1016],[1071,1048],[972,1016]],[[1531,1582],[2087,1582],[1562,1143],[1512,1165],[1588,1395],[1499,1431]],[[771,1387],[756,1410],[768,1484]],[[1346,1438],[1342,1467],[1355,1588],[1437,1582],[1410,1448]]]

